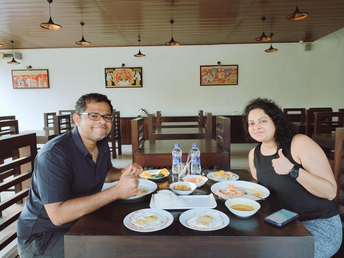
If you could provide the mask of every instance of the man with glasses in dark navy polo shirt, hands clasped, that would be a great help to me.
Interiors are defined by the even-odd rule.
[[[104,139],[114,120],[107,96],[81,96],[76,127],[47,142],[37,154],[29,197],[18,219],[20,257],[64,257],[64,235],[81,216],[137,193],[139,164],[112,166]],[[116,151],[115,148],[112,148]],[[101,191],[104,182],[118,184]]]

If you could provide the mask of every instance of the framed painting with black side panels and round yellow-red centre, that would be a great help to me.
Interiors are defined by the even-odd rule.
[[[105,87],[142,87],[142,67],[105,68]]]

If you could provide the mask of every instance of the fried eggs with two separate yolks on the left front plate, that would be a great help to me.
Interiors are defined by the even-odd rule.
[[[130,223],[143,229],[157,229],[164,226],[168,218],[153,212],[138,210],[130,216]]]

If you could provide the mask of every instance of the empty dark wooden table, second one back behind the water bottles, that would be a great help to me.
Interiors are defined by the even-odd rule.
[[[204,128],[158,128],[153,133],[153,140],[206,139]]]

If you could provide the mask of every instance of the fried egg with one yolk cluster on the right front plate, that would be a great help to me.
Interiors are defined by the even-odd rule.
[[[193,228],[214,229],[223,225],[223,218],[220,214],[212,211],[199,212],[189,218],[186,224]]]

